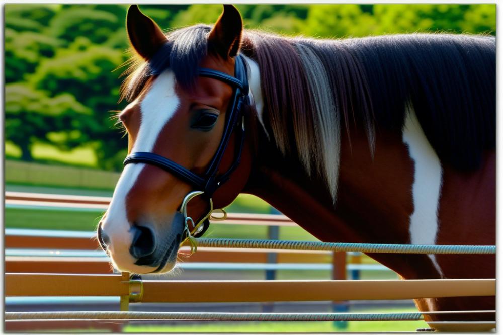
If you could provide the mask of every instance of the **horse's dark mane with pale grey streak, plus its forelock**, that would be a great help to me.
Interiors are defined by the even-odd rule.
[[[167,35],[152,65],[133,69],[122,97],[141,91],[151,68],[170,66],[190,88],[210,26]],[[260,69],[262,119],[283,154],[316,170],[336,199],[342,127],[362,124],[373,155],[376,128],[401,131],[408,106],[443,164],[474,170],[495,147],[495,38],[407,34],[341,40],[244,31],[241,52]],[[149,72],[150,71],[150,72]]]

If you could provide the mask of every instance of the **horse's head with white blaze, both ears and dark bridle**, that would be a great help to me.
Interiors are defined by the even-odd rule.
[[[166,272],[180,244],[202,234],[213,208],[234,200],[249,176],[242,20],[224,5],[213,27],[164,35],[131,6],[126,26],[138,58],[118,115],[128,156],[98,239],[119,270]]]

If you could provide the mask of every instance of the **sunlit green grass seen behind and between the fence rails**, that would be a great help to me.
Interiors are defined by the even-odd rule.
[[[50,145],[35,144],[34,157],[41,160],[54,160],[60,163],[95,166],[96,157],[90,148],[77,148],[70,152],[62,152]],[[19,157],[21,152],[10,143],[6,143],[6,156]],[[85,176],[85,177],[82,177]],[[99,170],[82,169],[79,167],[51,166],[47,164],[7,161],[6,185],[7,191],[39,192],[55,194],[111,196],[118,174],[110,174]],[[12,182],[15,184],[12,184]],[[82,180],[86,182],[82,184]],[[91,185],[91,187],[88,187]],[[106,187],[97,190],[97,185]],[[56,186],[56,187],[55,187]],[[239,195],[226,208],[228,212],[271,213],[271,206],[263,200],[248,194]],[[6,228],[55,229],[93,231],[96,228],[102,212],[66,209],[26,209],[6,208]],[[280,239],[284,240],[317,240],[300,227],[280,227]],[[206,237],[215,238],[250,238],[264,239],[268,237],[267,226],[245,225],[211,225]],[[364,256],[363,263],[375,263]],[[251,272],[249,275],[254,275]],[[277,279],[330,279],[330,271],[277,271]],[[262,278],[263,271],[255,276]],[[396,275],[388,271],[362,271],[362,279],[395,279]],[[377,310],[376,310],[377,311]],[[389,310],[387,310],[389,311]],[[412,310],[393,310],[412,311]],[[380,310],[383,312],[383,310]],[[423,321],[386,321],[386,322],[349,322],[347,329],[334,327],[333,322],[211,322],[202,324],[161,325],[127,325],[125,332],[387,332],[414,331],[416,328],[428,327]],[[93,329],[89,329],[93,331]]]

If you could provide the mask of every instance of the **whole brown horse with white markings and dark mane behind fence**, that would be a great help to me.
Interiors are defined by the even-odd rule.
[[[495,244],[494,37],[284,37],[243,29],[232,5],[167,34],[133,5],[126,30],[128,157],[98,225],[117,269],[170,271],[239,193],[321,241]],[[403,279],[495,278],[494,255],[368,255]]]

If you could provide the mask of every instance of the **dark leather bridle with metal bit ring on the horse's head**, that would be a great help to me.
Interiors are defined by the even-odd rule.
[[[173,160],[152,152],[134,152],[128,155],[124,160],[124,165],[130,163],[147,163],[155,165],[195,187],[197,191],[192,191],[187,194],[180,207],[180,212],[182,212],[185,219],[185,229],[180,244],[183,244],[189,238],[200,237],[208,229],[209,218],[213,212],[213,201],[211,197],[213,193],[230,178],[230,175],[236,170],[241,159],[241,152],[244,144],[244,116],[242,109],[245,104],[248,104],[247,98],[249,92],[246,65],[241,55],[235,57],[234,73],[235,77],[209,68],[199,69],[200,76],[223,81],[233,89],[232,97],[228,105],[229,107],[226,112],[222,139],[220,140],[215,155],[208,165],[208,169],[203,175],[195,174]],[[230,136],[234,131],[236,132],[236,141],[238,143],[235,147],[234,161],[225,173],[217,175],[223,154],[229,144]],[[210,209],[204,217],[195,223],[192,218],[187,215],[187,205],[191,199],[198,195],[208,200]],[[223,213],[225,214],[225,212]],[[192,223],[193,229],[189,228],[189,221]]]

